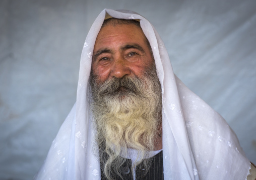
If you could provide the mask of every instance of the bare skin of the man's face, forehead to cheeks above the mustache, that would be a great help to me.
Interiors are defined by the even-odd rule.
[[[97,82],[113,77],[142,78],[143,71],[152,66],[153,58],[143,31],[136,25],[106,25],[101,28],[93,51],[92,72]]]

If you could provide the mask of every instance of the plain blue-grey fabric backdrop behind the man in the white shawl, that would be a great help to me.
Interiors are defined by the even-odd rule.
[[[0,1],[0,179],[32,179],[76,101],[86,35],[104,9],[146,17],[174,72],[256,162],[256,1]]]

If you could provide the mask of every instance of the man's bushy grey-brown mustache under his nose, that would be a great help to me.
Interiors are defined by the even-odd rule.
[[[140,93],[139,86],[142,83],[143,82],[138,77],[111,78],[102,85],[99,85],[99,95],[114,96],[117,94],[138,94]]]

